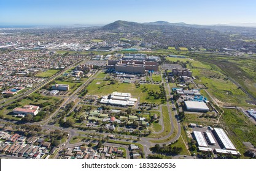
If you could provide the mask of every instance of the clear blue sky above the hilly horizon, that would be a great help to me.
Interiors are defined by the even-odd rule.
[[[256,23],[255,0],[0,0],[1,24]]]

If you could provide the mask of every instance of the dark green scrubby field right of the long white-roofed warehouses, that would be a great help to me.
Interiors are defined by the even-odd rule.
[[[255,126],[241,112],[233,109],[224,109],[222,120],[225,125],[221,125],[227,132],[235,147],[241,153],[246,152],[246,147],[242,142],[251,142],[256,147]]]

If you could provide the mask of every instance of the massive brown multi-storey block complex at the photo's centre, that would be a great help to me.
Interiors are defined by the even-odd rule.
[[[108,60],[107,69],[115,69],[122,73],[145,73],[145,71],[158,71],[158,63],[145,60]]]

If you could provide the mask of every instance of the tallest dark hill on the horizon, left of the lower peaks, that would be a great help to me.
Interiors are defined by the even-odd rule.
[[[142,26],[143,24],[140,24],[140,23],[118,20],[118,21],[115,21],[114,23],[107,24],[102,28],[104,30],[116,30],[116,29],[125,29],[125,28],[129,28],[129,29],[142,28]]]

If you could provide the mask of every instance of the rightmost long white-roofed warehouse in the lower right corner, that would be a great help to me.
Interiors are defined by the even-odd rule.
[[[219,141],[222,143],[223,147],[227,150],[236,150],[236,147],[233,145],[231,140],[228,138],[227,134],[222,128],[214,128],[214,133]]]

